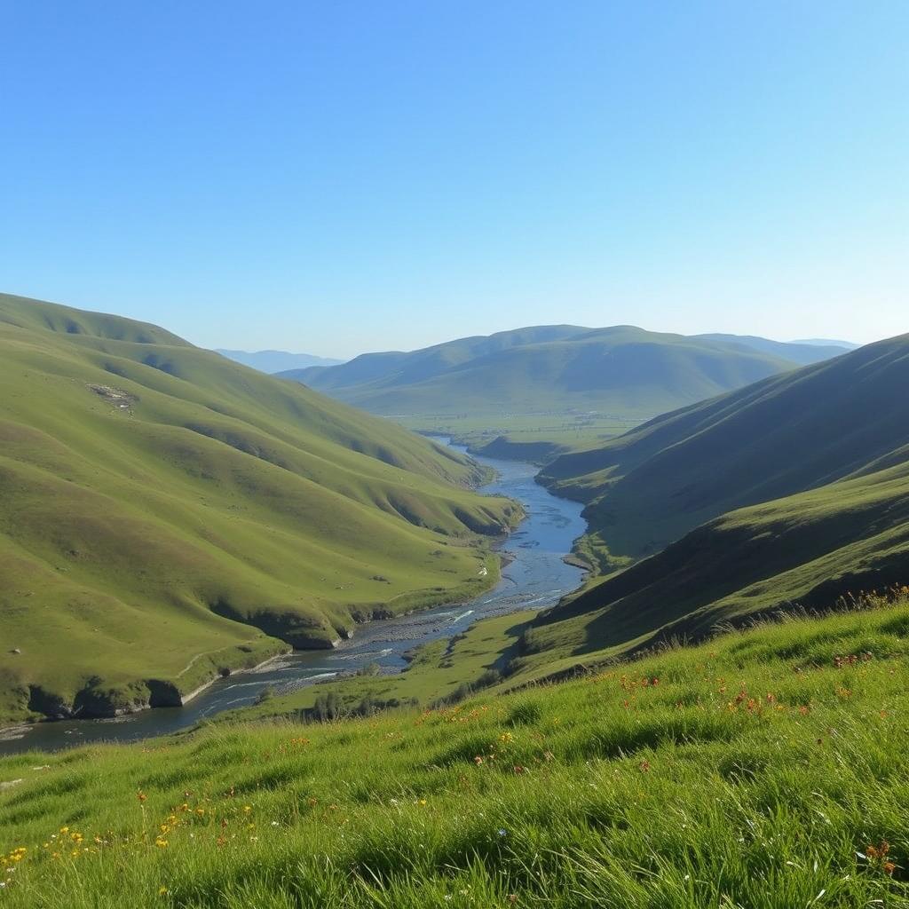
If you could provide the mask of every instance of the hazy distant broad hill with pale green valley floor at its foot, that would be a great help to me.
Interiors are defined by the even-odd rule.
[[[517,444],[578,447],[791,369],[802,353],[794,348],[788,359],[744,343],[627,325],[548,325],[281,375],[476,446],[501,435]]]

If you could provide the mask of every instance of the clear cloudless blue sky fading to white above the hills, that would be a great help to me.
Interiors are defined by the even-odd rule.
[[[0,5],[0,289],[321,355],[909,331],[909,3]]]

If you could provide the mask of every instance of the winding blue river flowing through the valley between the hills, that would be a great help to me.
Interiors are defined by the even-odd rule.
[[[457,445],[453,447],[464,451]],[[566,564],[563,557],[571,551],[574,539],[586,530],[581,517],[583,506],[557,498],[536,484],[534,464],[480,456],[476,460],[496,472],[496,479],[484,486],[483,492],[516,499],[527,514],[502,544],[508,564],[493,590],[469,603],[360,625],[353,639],[335,650],[287,654],[257,669],[218,679],[183,707],[160,707],[110,720],[34,724],[21,737],[0,739],[0,754],[32,748],[56,751],[89,742],[128,742],[175,733],[206,716],[254,703],[266,686],[271,686],[276,694],[285,694],[372,663],[386,672],[401,670],[406,665],[406,652],[417,644],[451,637],[491,615],[554,604],[581,582],[581,569]]]

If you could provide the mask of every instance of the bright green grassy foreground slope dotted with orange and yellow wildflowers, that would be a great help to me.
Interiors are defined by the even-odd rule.
[[[909,602],[441,710],[0,761],[0,899],[909,905]]]

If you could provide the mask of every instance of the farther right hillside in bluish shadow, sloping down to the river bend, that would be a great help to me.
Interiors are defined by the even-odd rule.
[[[743,505],[903,463],[907,385],[903,335],[657,417],[541,480],[589,503],[592,548],[621,564]]]

